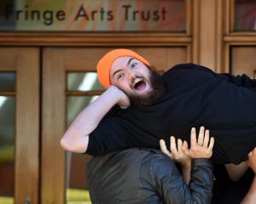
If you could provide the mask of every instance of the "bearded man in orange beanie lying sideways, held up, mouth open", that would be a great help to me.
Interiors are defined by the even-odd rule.
[[[202,125],[215,138],[215,163],[244,165],[256,145],[256,81],[246,75],[183,64],[159,76],[129,49],[105,54],[97,72],[107,90],[67,129],[61,139],[65,150],[97,156],[132,147],[158,149],[160,139],[189,140],[190,128]]]

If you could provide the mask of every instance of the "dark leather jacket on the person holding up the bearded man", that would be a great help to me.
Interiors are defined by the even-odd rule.
[[[210,203],[212,163],[192,160],[189,185],[160,150],[128,149],[93,158],[87,165],[90,199],[95,204]]]

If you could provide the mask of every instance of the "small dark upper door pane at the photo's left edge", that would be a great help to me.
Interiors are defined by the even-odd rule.
[[[15,81],[14,72],[0,72],[0,91],[15,91]]]

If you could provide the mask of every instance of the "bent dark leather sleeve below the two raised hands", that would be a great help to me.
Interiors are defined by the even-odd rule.
[[[166,203],[206,204],[211,202],[212,163],[207,159],[192,161],[189,185],[184,183],[175,163],[168,157],[154,161],[152,174],[156,189]]]

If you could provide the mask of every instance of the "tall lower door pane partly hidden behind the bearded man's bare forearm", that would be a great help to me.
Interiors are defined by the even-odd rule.
[[[98,96],[68,96],[67,97],[67,126],[75,116]],[[86,163],[90,156],[67,152],[67,203],[90,201],[86,181]],[[84,203],[84,202],[83,202]],[[86,202],[90,203],[90,202]]]

